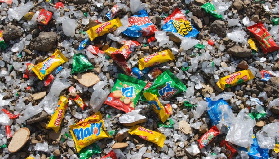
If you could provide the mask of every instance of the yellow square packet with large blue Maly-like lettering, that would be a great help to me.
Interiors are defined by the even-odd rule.
[[[104,121],[100,112],[80,120],[70,126],[70,132],[76,145],[77,152],[97,140],[111,137],[104,128]]]

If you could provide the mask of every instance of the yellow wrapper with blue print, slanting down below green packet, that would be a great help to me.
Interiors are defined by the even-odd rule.
[[[162,122],[165,122],[169,118],[169,114],[167,114],[165,107],[161,104],[156,94],[151,94],[145,92],[144,97],[146,98],[147,102],[152,106],[152,109],[155,111],[156,114],[160,117]]]

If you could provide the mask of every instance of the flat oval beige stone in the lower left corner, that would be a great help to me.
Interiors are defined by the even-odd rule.
[[[11,142],[8,145],[8,150],[11,153],[20,150],[20,148],[22,148],[29,140],[29,135],[30,131],[26,127],[20,128],[18,131],[15,131],[13,138],[11,139]]]

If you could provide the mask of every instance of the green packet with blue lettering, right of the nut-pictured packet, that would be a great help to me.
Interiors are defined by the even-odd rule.
[[[162,98],[163,100],[168,100],[172,96],[186,91],[186,86],[176,78],[170,70],[166,70],[161,75],[159,75],[154,81],[151,87],[149,87],[144,92],[149,92],[151,94],[156,94],[157,97]],[[145,97],[142,96],[142,100],[145,100]]]

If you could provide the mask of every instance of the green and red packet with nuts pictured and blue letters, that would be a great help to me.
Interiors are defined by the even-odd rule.
[[[146,83],[134,77],[118,74],[118,78],[104,104],[125,113],[135,110],[141,91]]]

